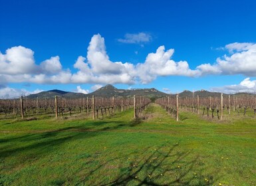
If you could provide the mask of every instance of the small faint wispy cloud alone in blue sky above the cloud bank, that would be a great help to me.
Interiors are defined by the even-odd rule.
[[[147,33],[138,33],[138,34],[126,34],[124,35],[124,39],[118,39],[121,43],[148,43],[152,40],[152,36]]]

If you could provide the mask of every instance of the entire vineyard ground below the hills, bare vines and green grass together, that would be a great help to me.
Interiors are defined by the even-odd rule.
[[[254,96],[153,101],[0,100],[0,185],[256,184]]]

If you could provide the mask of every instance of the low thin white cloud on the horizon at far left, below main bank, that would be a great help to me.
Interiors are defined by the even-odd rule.
[[[19,98],[21,96],[29,96],[29,94],[37,94],[42,92],[43,90],[34,90],[32,92],[25,90],[25,89],[17,89],[17,88],[10,88],[5,87],[0,89],[0,98]]]

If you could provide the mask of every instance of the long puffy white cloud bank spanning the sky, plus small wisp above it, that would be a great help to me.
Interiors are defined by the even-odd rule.
[[[126,35],[127,43],[150,41],[150,37],[139,33]],[[24,46],[8,48],[0,52],[0,84],[148,84],[158,76],[198,77],[209,74],[243,74],[256,76],[256,44],[231,43],[225,46],[228,54],[216,59],[213,64],[200,64],[191,69],[186,60],[172,59],[174,49],[159,46],[156,52],[146,56],[144,62],[113,62],[107,52],[104,38],[94,35],[88,45],[87,55],[78,56],[73,70],[63,69],[61,58],[51,58],[36,64],[34,52]]]

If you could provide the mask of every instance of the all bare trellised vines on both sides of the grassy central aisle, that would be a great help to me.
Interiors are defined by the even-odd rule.
[[[72,114],[86,114],[88,117],[104,118],[115,112],[134,108],[134,118],[140,118],[141,113],[151,102],[146,96],[133,97],[95,97],[71,99],[64,97],[51,98],[20,98],[0,100],[1,118],[27,118],[39,115],[72,116]],[[237,114],[243,116],[255,116],[255,96],[231,96],[224,95],[213,97],[179,97],[166,96],[155,100],[166,112],[176,120],[179,120],[179,110],[194,112],[223,120],[223,116]],[[232,112],[232,114],[231,114]]]

